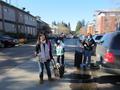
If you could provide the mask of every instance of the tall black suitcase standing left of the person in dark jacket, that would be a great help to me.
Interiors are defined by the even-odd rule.
[[[80,68],[80,65],[82,64],[82,57],[83,57],[83,53],[82,52],[78,52],[75,51],[75,61],[74,61],[74,66],[77,68]]]

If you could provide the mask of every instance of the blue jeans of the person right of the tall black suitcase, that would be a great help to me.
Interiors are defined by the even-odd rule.
[[[91,55],[92,55],[92,51],[88,51],[88,50],[84,51],[84,59],[83,59],[83,64],[84,65],[87,65],[87,66],[90,65]]]

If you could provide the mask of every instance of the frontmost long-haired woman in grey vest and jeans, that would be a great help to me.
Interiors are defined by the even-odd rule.
[[[47,70],[48,80],[52,81],[51,78],[51,70],[50,70],[50,59],[52,57],[52,50],[50,41],[48,41],[45,34],[39,34],[37,44],[36,44],[36,55],[39,56],[39,78],[40,83],[43,83],[43,76],[44,76],[44,66]]]

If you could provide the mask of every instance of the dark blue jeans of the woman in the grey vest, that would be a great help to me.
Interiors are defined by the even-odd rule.
[[[47,61],[44,63],[40,62],[40,67],[41,67],[40,79],[43,79],[44,65],[45,65],[46,70],[47,70],[48,78],[50,79],[51,78],[50,61]]]

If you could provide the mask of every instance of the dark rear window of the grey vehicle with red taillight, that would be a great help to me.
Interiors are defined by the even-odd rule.
[[[115,36],[111,42],[111,48],[120,50],[120,34]]]

